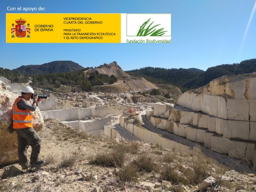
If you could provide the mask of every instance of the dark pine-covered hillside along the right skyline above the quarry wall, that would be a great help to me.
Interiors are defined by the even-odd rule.
[[[224,75],[238,75],[254,71],[256,71],[256,59],[244,60],[239,64],[218,65],[208,68],[205,72],[194,70],[193,68],[165,69],[154,67],[145,67],[126,72],[131,76],[144,77],[153,83],[176,85],[184,91],[199,88]]]

